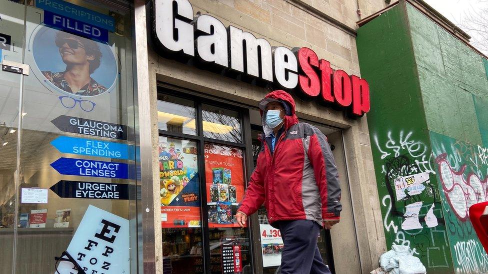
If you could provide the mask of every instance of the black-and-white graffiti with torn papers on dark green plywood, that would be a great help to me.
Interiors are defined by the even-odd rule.
[[[430,180],[435,165],[428,142],[406,130],[374,134],[373,141],[388,244],[410,247],[427,269],[448,268],[447,234],[439,228],[445,222],[439,189]]]

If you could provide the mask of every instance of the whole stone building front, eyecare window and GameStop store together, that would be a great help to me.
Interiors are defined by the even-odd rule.
[[[384,1],[0,1],[2,273],[275,273],[264,208],[233,220],[274,89],[333,148],[324,261],[377,267],[355,22]]]

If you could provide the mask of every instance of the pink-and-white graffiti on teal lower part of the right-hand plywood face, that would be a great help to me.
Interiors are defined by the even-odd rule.
[[[488,271],[488,255],[469,221],[469,207],[487,200],[488,149],[430,132],[446,232],[456,273]]]

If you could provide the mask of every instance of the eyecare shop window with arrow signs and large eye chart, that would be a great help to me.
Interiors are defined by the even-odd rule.
[[[136,273],[128,3],[0,6],[1,273]]]

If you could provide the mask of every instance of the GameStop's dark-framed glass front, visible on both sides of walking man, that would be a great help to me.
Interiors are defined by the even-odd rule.
[[[235,220],[261,149],[259,111],[160,87],[157,117],[163,273],[278,273],[283,242],[264,207],[249,227]],[[343,153],[338,129],[315,126]],[[333,270],[328,231],[318,246]]]

